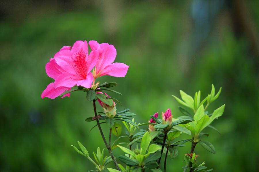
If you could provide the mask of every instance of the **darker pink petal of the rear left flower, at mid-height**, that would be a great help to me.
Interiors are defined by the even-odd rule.
[[[50,59],[50,62],[46,64],[46,73],[49,77],[57,79],[61,73],[65,71],[56,63],[55,59]]]

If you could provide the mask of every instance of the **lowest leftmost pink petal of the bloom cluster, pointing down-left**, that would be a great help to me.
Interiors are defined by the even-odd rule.
[[[49,97],[50,99],[54,99],[54,98],[60,96],[60,94],[62,94],[64,91],[66,91],[68,89],[67,87],[62,87],[62,86],[55,88],[54,85],[55,85],[54,83],[50,83],[47,86],[47,88],[42,92],[41,98]]]

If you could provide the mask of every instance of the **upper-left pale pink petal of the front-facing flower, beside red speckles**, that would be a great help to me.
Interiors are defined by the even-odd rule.
[[[75,74],[72,53],[70,50],[62,50],[57,52],[54,56],[54,59],[56,60],[56,63],[66,72]]]

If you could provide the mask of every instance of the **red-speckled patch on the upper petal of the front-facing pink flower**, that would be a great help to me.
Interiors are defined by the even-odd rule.
[[[85,59],[87,58],[87,52],[80,50],[79,52],[76,52],[74,58],[73,58],[73,68],[75,69],[75,72],[77,75],[86,78],[87,75],[87,63]]]

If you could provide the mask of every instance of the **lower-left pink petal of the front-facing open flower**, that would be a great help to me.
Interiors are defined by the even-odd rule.
[[[77,81],[81,79],[82,77],[79,77],[78,75],[71,75],[70,73],[62,73],[58,76],[58,78],[55,81],[55,88],[61,87],[61,86],[72,88],[75,85],[77,85]]]

